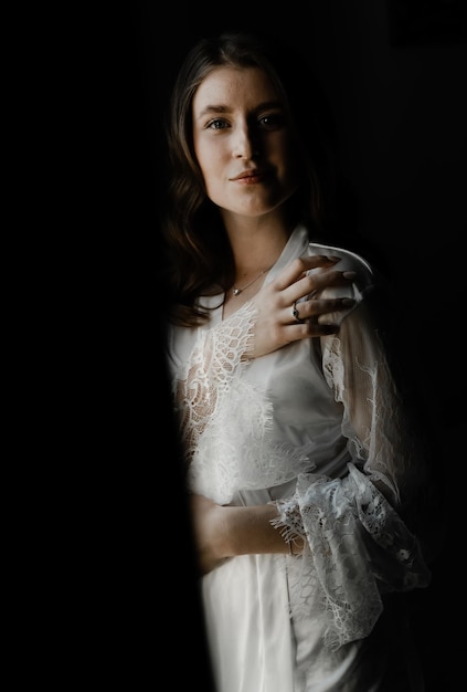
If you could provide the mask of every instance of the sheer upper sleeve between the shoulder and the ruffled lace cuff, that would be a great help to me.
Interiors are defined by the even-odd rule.
[[[427,481],[426,460],[367,303],[343,321],[338,335],[322,339],[322,366],[343,403],[342,432],[352,458],[404,513]]]

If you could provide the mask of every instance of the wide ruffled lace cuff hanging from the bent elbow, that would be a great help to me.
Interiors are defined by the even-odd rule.
[[[301,474],[294,496],[272,504],[273,526],[307,541],[288,568],[290,616],[325,618],[331,649],[371,632],[382,594],[429,583],[417,541],[353,464],[342,480]]]

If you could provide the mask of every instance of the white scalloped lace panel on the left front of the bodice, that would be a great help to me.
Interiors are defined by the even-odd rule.
[[[189,487],[221,504],[237,490],[277,485],[310,468],[300,450],[272,440],[272,405],[245,377],[255,317],[246,303],[201,331],[174,382]]]

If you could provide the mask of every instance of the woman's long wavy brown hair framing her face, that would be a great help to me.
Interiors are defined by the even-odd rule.
[[[226,291],[234,261],[216,207],[208,198],[192,135],[192,102],[216,67],[259,67],[282,95],[296,130],[301,184],[288,205],[291,219],[315,234],[323,227],[322,178],[330,180],[327,140],[318,114],[322,93],[306,61],[276,38],[225,32],[205,38],[188,53],[176,78],[166,117],[167,180],[161,224],[163,272],[171,292],[171,319],[191,326],[206,319],[199,295]]]

